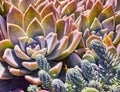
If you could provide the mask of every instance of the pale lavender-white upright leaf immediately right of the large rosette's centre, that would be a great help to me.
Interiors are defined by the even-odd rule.
[[[56,33],[49,33],[46,37],[47,43],[47,54],[50,54],[55,46],[57,45],[57,34]]]

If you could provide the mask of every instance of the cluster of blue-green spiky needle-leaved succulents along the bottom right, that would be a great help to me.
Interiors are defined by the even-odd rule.
[[[50,92],[119,92],[120,57],[117,54],[111,54],[111,51],[108,51],[99,40],[93,40],[91,47],[98,59],[90,62],[89,59],[79,58],[79,66],[67,69],[64,83],[50,73],[50,66],[45,57],[38,56],[38,75],[41,86],[30,85],[28,91],[44,89]]]

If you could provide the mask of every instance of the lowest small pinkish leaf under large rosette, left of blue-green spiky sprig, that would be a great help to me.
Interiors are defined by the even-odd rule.
[[[40,79],[38,77],[25,75],[25,79],[27,81],[29,81],[30,83],[34,84],[34,85],[40,85],[41,84],[41,81],[40,81]]]

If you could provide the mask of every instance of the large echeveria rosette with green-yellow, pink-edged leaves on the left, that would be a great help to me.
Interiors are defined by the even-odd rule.
[[[15,76],[37,70],[35,58],[38,54],[53,61],[65,59],[81,39],[81,32],[73,27],[71,18],[58,20],[50,12],[41,20],[40,14],[32,5],[25,13],[14,6],[8,12],[8,39],[0,43],[0,50],[1,59],[8,66],[6,68]]]

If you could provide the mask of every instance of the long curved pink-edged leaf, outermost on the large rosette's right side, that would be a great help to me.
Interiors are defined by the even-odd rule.
[[[78,32],[77,30],[72,31],[68,36],[69,38],[68,48],[57,59],[63,59],[67,57],[69,54],[71,54],[78,46],[81,37],[82,37],[81,32]]]

